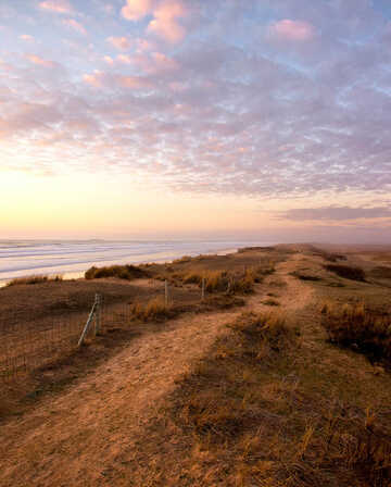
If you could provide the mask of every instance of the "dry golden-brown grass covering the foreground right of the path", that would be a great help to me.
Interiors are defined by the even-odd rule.
[[[390,432],[373,410],[330,395],[316,365],[302,369],[295,328],[244,313],[230,329],[173,395],[191,473],[178,485],[390,486]]]

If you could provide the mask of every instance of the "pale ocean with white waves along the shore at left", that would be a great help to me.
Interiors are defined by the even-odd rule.
[[[273,242],[245,240],[0,240],[0,286],[33,274],[77,278],[92,265],[169,262],[182,255],[269,245]]]

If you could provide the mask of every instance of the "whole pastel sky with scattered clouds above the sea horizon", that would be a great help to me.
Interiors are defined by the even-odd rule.
[[[1,0],[0,238],[391,239],[389,0]]]

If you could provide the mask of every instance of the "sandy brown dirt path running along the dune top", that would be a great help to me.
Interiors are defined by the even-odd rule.
[[[285,310],[303,308],[312,299],[311,286],[288,275],[299,258],[293,255],[277,272],[287,283],[279,292]],[[255,295],[245,309],[265,309],[262,299]],[[242,311],[176,320],[164,332],[136,339],[64,395],[3,425],[0,485],[112,485],[111,465],[121,461],[123,450],[138,448],[138,432],[176,380]]]

